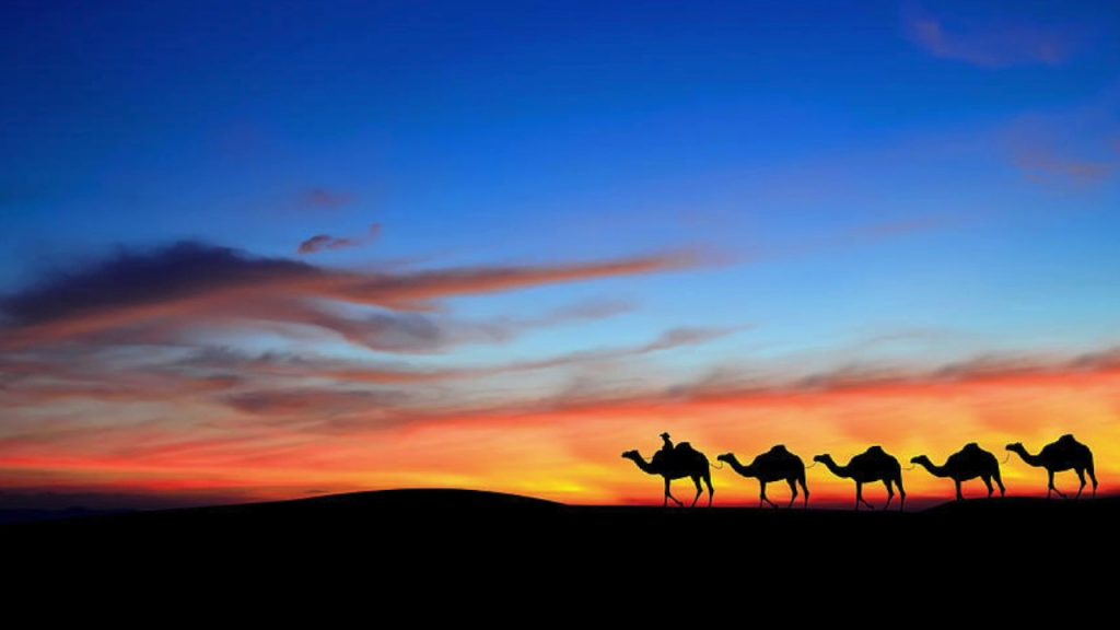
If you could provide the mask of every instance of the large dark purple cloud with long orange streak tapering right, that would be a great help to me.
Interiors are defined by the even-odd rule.
[[[267,326],[282,333],[291,333],[292,327],[325,331],[357,345],[394,350],[410,339],[430,342],[444,334],[414,314],[431,308],[433,300],[657,274],[698,263],[694,256],[657,254],[566,265],[379,272],[329,269],[181,242],[142,252],[121,251],[0,296],[0,346],[15,350],[93,337],[105,343],[156,343],[181,340],[206,327]],[[352,308],[344,313],[339,305]],[[354,312],[363,307],[373,312]],[[457,334],[501,340],[503,333],[489,325],[463,325]]]

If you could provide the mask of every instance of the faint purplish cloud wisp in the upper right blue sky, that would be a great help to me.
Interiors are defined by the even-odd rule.
[[[1076,37],[1052,25],[934,17],[915,4],[903,15],[906,36],[931,55],[979,67],[1057,66],[1073,56]]]

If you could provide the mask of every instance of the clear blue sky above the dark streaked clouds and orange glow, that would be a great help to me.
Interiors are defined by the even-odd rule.
[[[0,12],[9,294],[120,248],[195,240],[299,258],[312,235],[361,240],[376,223],[365,247],[306,260],[708,260],[450,299],[446,315],[475,323],[617,313],[417,364],[525,361],[679,327],[737,332],[651,361],[936,363],[1117,341],[1112,2]],[[267,346],[237,339],[223,342]]]

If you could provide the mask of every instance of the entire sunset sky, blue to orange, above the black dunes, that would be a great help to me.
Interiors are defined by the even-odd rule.
[[[46,4],[0,8],[0,508],[660,504],[662,432],[1074,434],[1120,488],[1114,3]]]

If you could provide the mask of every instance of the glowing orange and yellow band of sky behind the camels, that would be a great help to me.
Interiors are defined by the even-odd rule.
[[[164,402],[166,405],[166,402]],[[1120,369],[1089,367],[1005,369],[953,377],[860,378],[820,385],[698,387],[671,395],[631,392],[595,399],[416,416],[400,426],[360,428],[320,423],[245,423],[237,414],[187,399],[176,423],[58,421],[26,439],[8,438],[0,481],[12,488],[84,489],[127,493],[225,493],[273,499],[319,492],[400,487],[459,487],[515,492],[569,503],[659,503],[657,478],[620,458],[636,447],[647,456],[669,430],[708,454],[741,460],[783,443],[806,463],[832,453],[841,463],[871,444],[908,463],[936,463],[977,441],[1002,461],[1004,445],[1032,452],[1073,433],[1095,454],[1102,491],[1120,481]],[[111,407],[110,407],[111,408]],[[96,413],[96,411],[92,411]],[[380,427],[380,428],[377,428]],[[907,464],[908,465],[908,464]],[[1010,494],[1045,491],[1045,473],[1012,458],[1004,466]],[[952,483],[921,469],[906,472],[911,499],[952,497]],[[1060,485],[1075,489],[1073,473]],[[729,469],[715,472],[717,504],[757,501],[757,483]],[[676,482],[688,498],[691,483]],[[847,503],[852,484],[823,466],[809,472],[818,504]],[[772,485],[781,502],[787,489]],[[979,495],[980,482],[967,485]],[[870,489],[881,503],[880,487]]]

